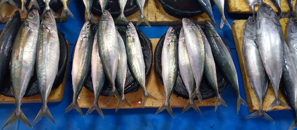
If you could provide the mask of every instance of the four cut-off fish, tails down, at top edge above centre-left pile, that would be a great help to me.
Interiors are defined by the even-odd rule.
[[[108,0],[98,0],[98,1],[100,3],[101,10],[105,10],[106,6],[108,4]],[[128,21],[128,19],[126,18],[125,14],[124,14],[124,9],[125,9],[127,0],[118,0],[118,1],[119,1],[119,6],[120,6],[120,15],[117,17],[115,22],[122,21],[122,22],[128,23],[129,21]],[[85,6],[86,6],[86,9],[87,9],[88,20],[93,20],[92,12],[91,12],[93,0],[83,0],[83,2],[84,2]],[[148,19],[146,18],[145,14],[144,14],[144,6],[145,6],[145,3],[146,3],[146,0],[136,0],[136,2],[137,2],[137,5],[139,7],[139,10],[140,10],[140,16],[139,16],[139,19],[138,19],[136,25],[138,26],[142,22],[145,22],[148,26],[150,26],[150,24],[148,22]],[[96,21],[96,20],[94,20],[94,21]]]

